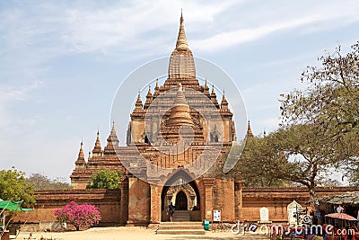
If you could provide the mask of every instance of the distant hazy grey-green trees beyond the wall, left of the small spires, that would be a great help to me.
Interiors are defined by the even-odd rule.
[[[51,180],[40,173],[31,173],[28,181],[34,185],[35,190],[71,189],[69,183],[60,181],[59,179]]]

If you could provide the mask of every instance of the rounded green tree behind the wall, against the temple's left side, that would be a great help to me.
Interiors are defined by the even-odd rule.
[[[110,171],[108,168],[93,173],[91,181],[87,183],[87,189],[118,189],[120,171]]]

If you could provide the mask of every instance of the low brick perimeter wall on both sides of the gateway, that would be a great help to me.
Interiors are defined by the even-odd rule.
[[[229,182],[217,182],[217,187],[223,187]],[[200,189],[199,191],[203,191]],[[231,209],[229,202],[235,198],[233,195],[234,184],[228,184],[228,189],[215,192],[214,203],[216,206],[223,204],[223,210]],[[319,196],[343,194],[347,191],[359,191],[354,187],[338,187],[338,188],[318,188]],[[310,200],[310,196],[306,188],[243,188],[242,189],[242,212],[241,220],[258,221],[259,209],[267,207],[269,209],[269,220],[274,222],[287,221],[287,205],[296,200],[302,207],[305,202]],[[237,193],[238,194],[238,193]],[[237,196],[238,197],[238,196]],[[25,212],[13,218],[15,223],[34,223],[46,226],[46,223],[53,223],[56,218],[54,210],[65,206],[71,200],[77,203],[89,203],[96,205],[101,211],[101,225],[118,225],[120,224],[120,200],[121,194],[119,190],[67,190],[67,191],[37,191],[37,205],[35,210]],[[203,198],[203,196],[202,196]],[[231,199],[230,201],[228,201]],[[237,200],[238,201],[238,200]],[[239,204],[238,202],[234,204]],[[228,207],[228,208],[227,208]],[[238,209],[236,206],[233,209]],[[223,213],[224,213],[223,212]],[[228,212],[227,212],[228,214]],[[229,213],[232,218],[232,212]],[[235,218],[240,215],[236,213]],[[223,216],[224,217],[224,216]],[[232,220],[232,219],[231,219]]]

